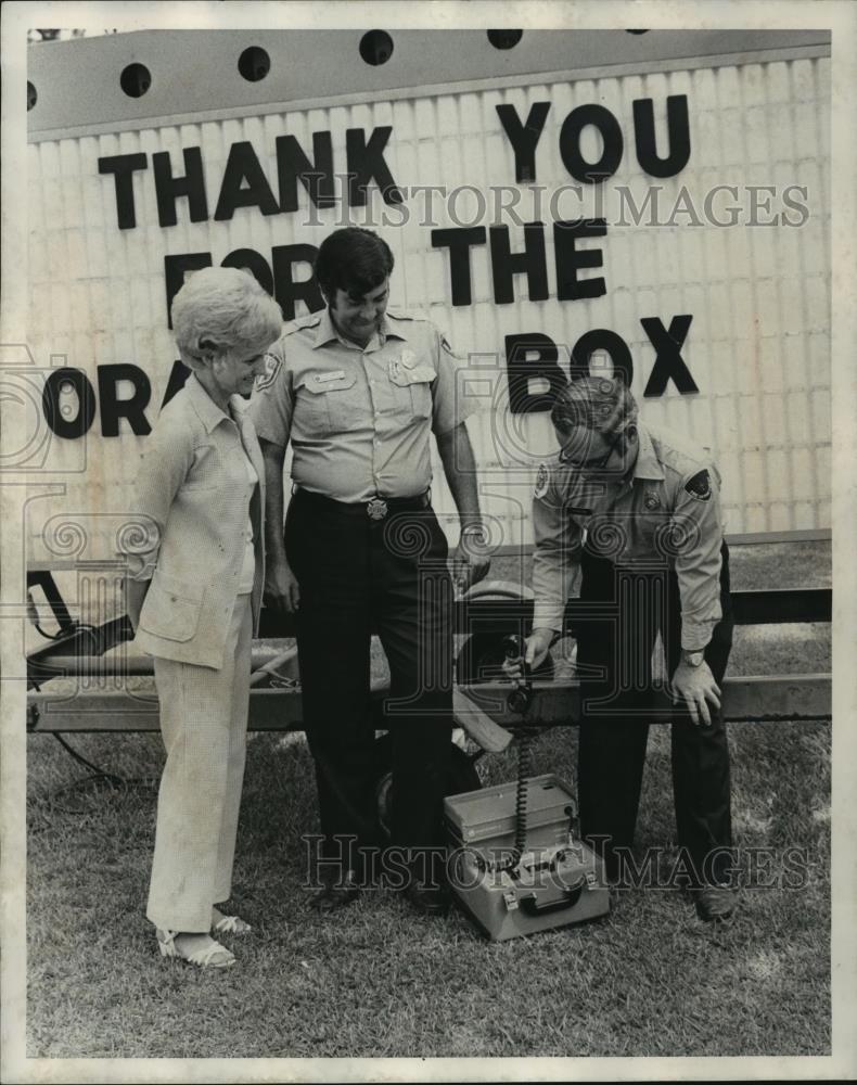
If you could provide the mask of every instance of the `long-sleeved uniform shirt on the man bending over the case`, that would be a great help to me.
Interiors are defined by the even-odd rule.
[[[614,564],[667,565],[681,596],[681,647],[703,649],[719,622],[720,476],[703,451],[663,426],[638,426],[625,480],[581,471],[557,456],[539,469],[533,501],[534,628],[562,628],[585,542]]]

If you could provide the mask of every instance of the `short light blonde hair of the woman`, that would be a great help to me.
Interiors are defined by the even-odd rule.
[[[172,331],[181,360],[205,366],[209,354],[260,354],[279,339],[280,306],[243,268],[202,268],[172,299]]]

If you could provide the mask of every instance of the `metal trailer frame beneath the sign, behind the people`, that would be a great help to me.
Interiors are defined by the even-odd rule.
[[[155,731],[158,729],[157,697],[153,691],[131,690],[125,679],[151,675],[152,661],[129,655],[123,647],[132,630],[123,616],[100,626],[80,626],[68,610],[48,571],[28,574],[28,587],[39,584],[60,625],[55,641],[27,656],[27,730],[63,731]],[[830,588],[779,589],[771,591],[733,591],[736,624],[829,623],[832,615]],[[457,603],[456,630],[460,635],[509,634],[523,636],[533,614],[532,600],[464,598]],[[587,605],[568,602],[566,626],[587,616]],[[293,623],[266,615],[263,637],[290,637]],[[110,653],[113,649],[118,652]],[[252,668],[258,672],[282,655],[282,651],[254,643]],[[296,669],[294,669],[296,674]],[[77,678],[68,692],[43,691],[41,686],[54,678]],[[536,680],[529,707],[522,716],[508,703],[509,682],[462,682],[466,697],[501,727],[522,725],[553,727],[574,725],[580,718],[577,680]],[[386,729],[384,701],[388,689],[372,690],[376,728]],[[724,714],[733,723],[763,720],[809,720],[832,717],[830,674],[754,675],[727,677],[724,682]],[[670,702],[666,693],[651,714],[652,723],[669,723]],[[299,684],[285,680],[280,688],[253,688],[250,698],[251,730],[295,730],[303,726]]]

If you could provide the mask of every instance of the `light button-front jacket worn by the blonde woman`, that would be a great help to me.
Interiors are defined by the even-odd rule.
[[[129,614],[142,651],[178,663],[221,667],[247,532],[256,556],[251,605],[258,630],[265,575],[265,463],[241,396],[223,413],[191,374],[146,439],[136,513],[144,540],[130,554],[133,579],[151,585]],[[242,447],[258,475],[247,476]],[[136,518],[136,519],[138,519]]]

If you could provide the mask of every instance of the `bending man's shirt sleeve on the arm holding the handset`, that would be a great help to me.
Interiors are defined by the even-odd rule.
[[[540,473],[541,473],[540,469]],[[564,508],[553,486],[533,498],[533,628],[562,630],[580,560],[580,528]]]

